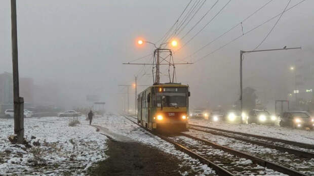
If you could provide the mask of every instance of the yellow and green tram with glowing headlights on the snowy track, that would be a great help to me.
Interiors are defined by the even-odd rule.
[[[149,86],[138,94],[137,121],[152,131],[186,131],[188,85],[162,83]]]

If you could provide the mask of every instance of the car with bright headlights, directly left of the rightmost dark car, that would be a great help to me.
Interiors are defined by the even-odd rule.
[[[276,124],[278,118],[270,115],[267,110],[253,109],[250,111],[247,122],[256,124]]]

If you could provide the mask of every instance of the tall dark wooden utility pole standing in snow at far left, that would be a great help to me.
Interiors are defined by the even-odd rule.
[[[12,65],[13,65],[13,101],[14,101],[14,134],[17,143],[24,142],[24,99],[19,93],[19,66],[17,49],[17,20],[16,0],[11,0],[11,36],[12,36]]]

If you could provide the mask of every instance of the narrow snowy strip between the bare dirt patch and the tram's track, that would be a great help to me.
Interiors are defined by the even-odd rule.
[[[130,118],[130,117],[129,117]],[[132,123],[121,115],[107,114],[103,118],[93,120],[93,124],[101,126],[101,133],[118,141],[136,141],[148,146],[158,148],[166,153],[175,155],[178,159],[182,160],[180,166],[189,165],[194,171],[200,171],[200,175],[208,175],[213,172],[210,167],[203,165],[199,160],[193,159],[187,154],[175,149],[174,145],[163,141],[159,137],[150,134],[145,129]],[[188,174],[187,172],[181,173],[182,175]]]

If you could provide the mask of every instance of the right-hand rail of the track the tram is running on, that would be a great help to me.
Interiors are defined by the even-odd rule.
[[[279,165],[279,164],[276,164],[276,163],[273,163],[273,162],[270,162],[270,161],[266,161],[266,160],[264,160],[262,158],[259,158],[259,157],[256,157],[256,156],[244,153],[244,152],[233,150],[231,148],[228,148],[228,147],[225,147],[225,146],[221,146],[219,144],[216,144],[216,143],[204,140],[204,139],[200,139],[200,138],[197,138],[197,137],[194,137],[194,136],[191,136],[191,135],[187,135],[187,134],[184,134],[184,133],[181,133],[180,135],[185,136],[187,138],[191,138],[191,139],[200,141],[200,142],[203,142],[206,145],[209,145],[209,146],[212,146],[212,147],[214,147],[216,149],[223,150],[225,152],[231,153],[231,154],[233,154],[235,156],[250,159],[250,160],[252,160],[256,164],[259,164],[261,166],[264,166],[264,167],[267,167],[267,168],[270,168],[270,169],[273,169],[273,170],[277,170],[279,172],[282,172],[282,173],[285,173],[285,174],[288,174],[288,175],[295,175],[295,176],[296,175],[303,175],[303,176],[307,175],[307,174],[304,174],[302,172],[290,169],[288,167],[285,167],[285,166],[282,166],[282,165]]]

